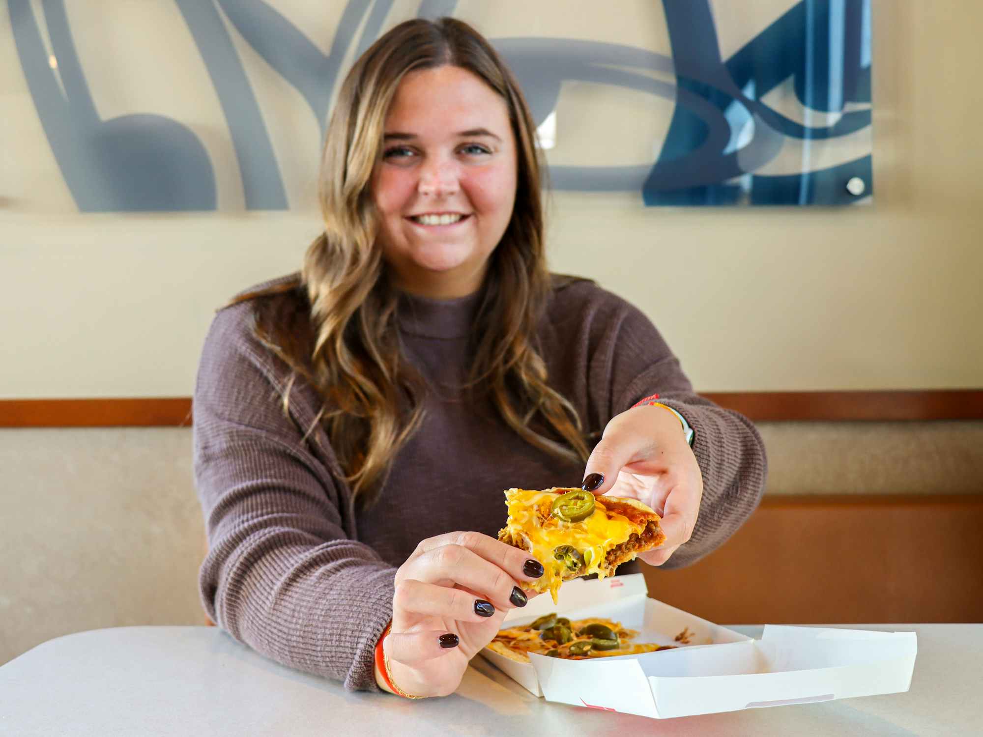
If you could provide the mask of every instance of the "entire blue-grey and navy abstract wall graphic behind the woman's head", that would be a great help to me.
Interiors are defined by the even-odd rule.
[[[226,22],[306,101],[321,134],[343,60],[381,32],[393,0],[348,0],[325,55],[263,0],[173,0],[202,56],[228,127],[249,209],[288,209],[260,105]],[[42,0],[61,84],[30,0],[8,0],[30,95],[62,175],[83,212],[213,210],[207,152],[185,124],[160,115],[101,120],[79,61],[64,0]],[[451,15],[454,0],[423,0],[418,15]],[[559,190],[637,192],[647,205],[820,204],[872,192],[871,155],[813,168],[819,147],[871,125],[870,0],[802,0],[723,59],[710,0],[663,0],[671,57],[566,38],[492,39],[515,72],[537,125],[561,85],[589,82],[669,100],[674,111],[656,160],[637,166],[552,166]],[[661,73],[666,80],[653,77]],[[781,85],[828,125],[797,122],[763,102]],[[830,122],[834,121],[834,122]],[[763,173],[789,142],[801,166]],[[796,148],[798,150],[798,148]]]

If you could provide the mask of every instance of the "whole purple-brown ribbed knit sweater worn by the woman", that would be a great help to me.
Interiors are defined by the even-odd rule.
[[[284,415],[289,371],[254,337],[253,304],[218,312],[194,403],[209,546],[200,586],[208,616],[237,640],[348,688],[376,689],[373,652],[392,615],[393,577],[417,543],[455,530],[493,537],[505,488],[580,485],[582,466],[532,447],[490,402],[462,391],[478,305],[477,295],[404,298],[400,338],[431,387],[427,415],[368,510],[353,503],[326,434],[304,438],[319,409],[310,386],[294,388]],[[550,384],[588,432],[600,437],[610,418],[655,392],[696,430],[700,516],[666,567],[710,552],[751,514],[766,475],[758,432],[693,393],[641,312],[592,282],[557,279],[539,338]]]

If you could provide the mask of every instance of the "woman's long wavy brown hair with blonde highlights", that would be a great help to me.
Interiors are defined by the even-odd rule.
[[[385,33],[341,87],[321,157],[324,230],[298,279],[237,301],[257,299],[260,340],[318,392],[324,426],[356,499],[377,498],[392,460],[424,419],[426,386],[401,355],[395,324],[399,293],[376,245],[371,192],[385,116],[412,71],[461,67],[505,100],[517,148],[512,218],[492,252],[473,335],[469,386],[491,397],[524,440],[571,462],[587,447],[576,410],[548,383],[535,343],[549,297],[540,164],[535,125],[512,74],[474,28],[452,19],[413,20]],[[544,431],[538,431],[540,425]],[[549,436],[551,435],[551,436]]]

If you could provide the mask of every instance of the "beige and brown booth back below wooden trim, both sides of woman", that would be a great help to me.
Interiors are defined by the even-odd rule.
[[[983,621],[983,422],[763,423],[765,503],[653,595],[722,623]],[[202,624],[191,429],[0,429],[0,663]]]

